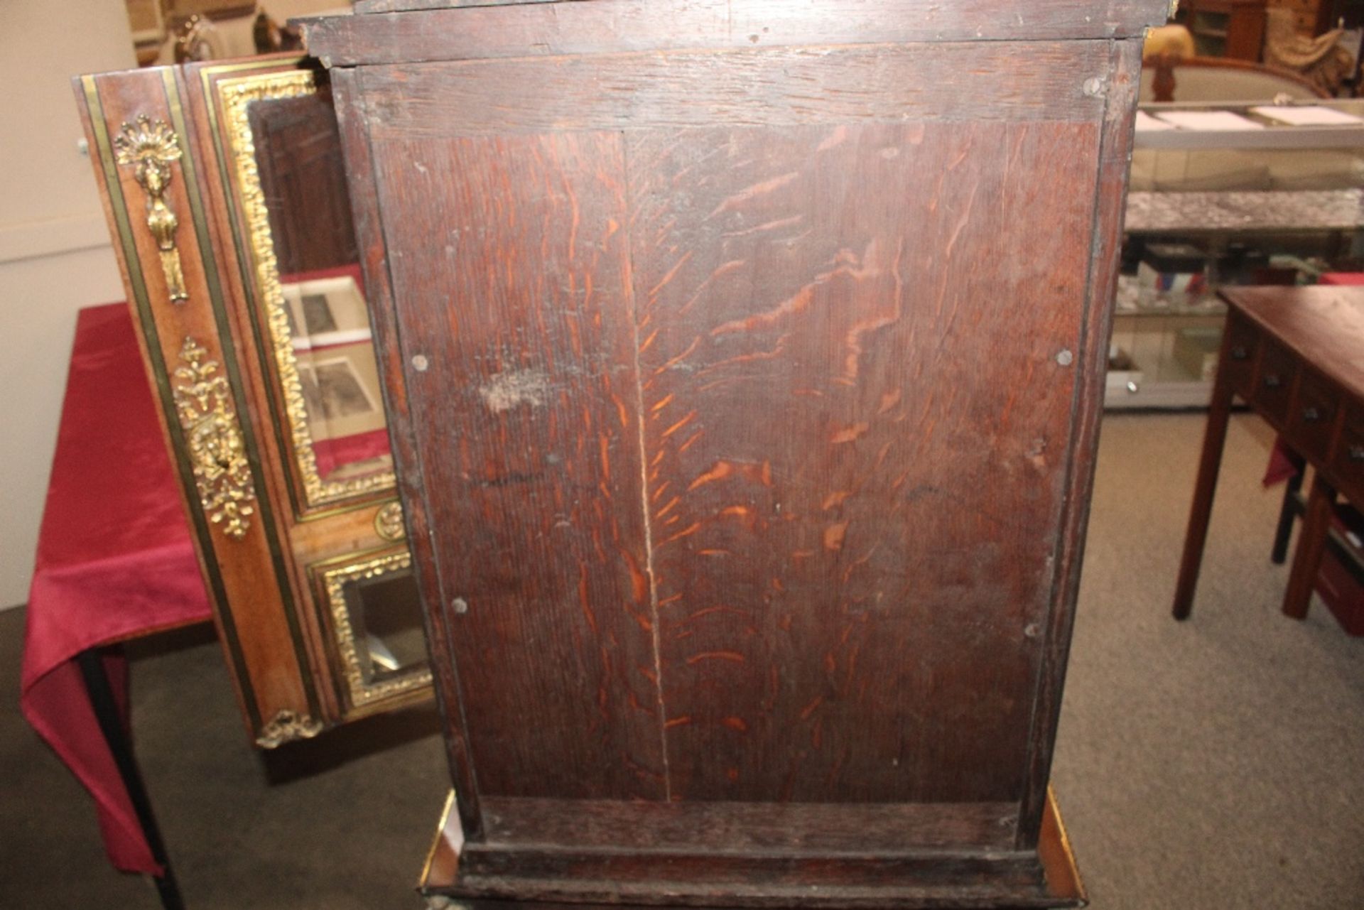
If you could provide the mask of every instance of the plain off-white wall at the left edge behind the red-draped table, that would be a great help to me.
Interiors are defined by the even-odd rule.
[[[0,0],[0,608],[29,593],[76,310],[124,296],[71,76],[132,65],[120,0]]]

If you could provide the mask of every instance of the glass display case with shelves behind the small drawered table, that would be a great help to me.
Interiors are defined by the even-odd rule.
[[[1364,226],[1364,102],[1299,105],[1144,104],[1128,194],[1106,404],[1206,407],[1225,307],[1217,289],[1311,284],[1356,270]],[[1267,113],[1269,109],[1278,115]],[[1244,120],[1174,128],[1161,115]],[[1143,128],[1144,127],[1144,128]],[[1170,247],[1198,262],[1168,259]]]

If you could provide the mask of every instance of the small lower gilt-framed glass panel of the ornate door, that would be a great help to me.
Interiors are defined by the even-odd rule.
[[[421,600],[406,550],[312,568],[352,708],[431,684]]]

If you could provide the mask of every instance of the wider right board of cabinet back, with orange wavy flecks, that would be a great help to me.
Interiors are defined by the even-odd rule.
[[[632,135],[675,797],[1019,797],[1093,190],[1038,211],[1095,143]]]

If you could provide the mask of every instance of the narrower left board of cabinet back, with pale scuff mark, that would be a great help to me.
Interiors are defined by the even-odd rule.
[[[619,135],[383,143],[442,608],[486,794],[666,791]],[[447,207],[412,205],[447,194]],[[449,304],[454,306],[449,306]],[[535,720],[522,712],[535,705]]]

